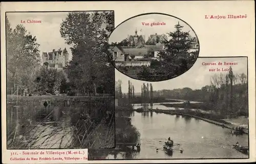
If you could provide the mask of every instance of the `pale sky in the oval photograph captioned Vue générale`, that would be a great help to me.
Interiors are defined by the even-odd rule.
[[[142,22],[153,23],[153,22],[165,22],[165,25],[151,26],[142,25]],[[145,41],[147,41],[148,36],[152,34],[166,34],[173,32],[175,30],[174,26],[178,22],[184,26],[183,31],[190,31],[190,35],[195,37],[195,33],[191,28],[183,21],[167,15],[162,14],[147,14],[141,15],[129,19],[116,27],[113,33],[110,35],[109,43],[121,42],[123,39],[127,38],[127,35],[135,35],[135,30],[137,29],[138,35],[145,35]],[[142,32],[141,32],[142,31]],[[166,34],[166,36],[168,36]]]

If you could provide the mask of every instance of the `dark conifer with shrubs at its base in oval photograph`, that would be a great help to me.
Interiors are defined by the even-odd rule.
[[[183,26],[179,23],[175,25],[175,31],[167,33],[169,40],[162,40],[164,50],[159,51],[159,62],[154,61],[150,71],[149,68],[143,68],[137,74],[141,80],[159,81],[164,79],[173,78],[187,71],[196,61],[198,51],[189,52],[192,40],[190,39],[189,32],[182,31]],[[159,38],[157,38],[159,41]],[[154,39],[148,40],[148,45],[155,45],[157,42]],[[151,43],[152,42],[152,43]]]

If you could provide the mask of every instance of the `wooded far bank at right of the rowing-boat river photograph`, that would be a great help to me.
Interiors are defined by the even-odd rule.
[[[154,92],[154,96],[160,95],[165,98],[205,102],[204,107],[200,108],[210,109],[226,117],[248,115],[247,76],[244,73],[235,74],[232,69],[227,74],[212,75],[211,84],[201,89],[183,88]]]

